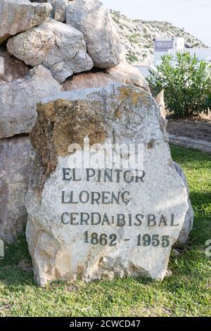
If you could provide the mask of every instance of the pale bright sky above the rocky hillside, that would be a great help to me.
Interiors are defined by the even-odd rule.
[[[211,48],[211,0],[101,0],[130,18],[167,20]]]

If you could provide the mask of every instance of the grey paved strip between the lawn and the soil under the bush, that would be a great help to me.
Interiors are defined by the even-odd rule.
[[[170,135],[170,143],[191,149],[199,149],[211,154],[211,142],[205,142],[204,140]]]

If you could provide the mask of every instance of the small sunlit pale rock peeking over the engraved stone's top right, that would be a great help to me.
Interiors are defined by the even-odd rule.
[[[118,82],[133,84],[148,90],[148,83],[143,75],[141,75],[140,71],[123,61],[116,67],[106,69],[106,73],[109,73],[109,75],[114,77]]]

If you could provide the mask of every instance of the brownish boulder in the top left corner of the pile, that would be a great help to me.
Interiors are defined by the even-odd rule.
[[[51,14],[51,4],[32,4],[28,0],[1,0],[0,44],[9,37],[44,22]]]

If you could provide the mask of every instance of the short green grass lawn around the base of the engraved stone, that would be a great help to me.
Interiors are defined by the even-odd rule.
[[[195,223],[188,243],[170,259],[172,277],[101,280],[89,285],[33,282],[24,237],[6,247],[0,261],[0,316],[211,316],[211,157],[172,146],[191,190]]]

